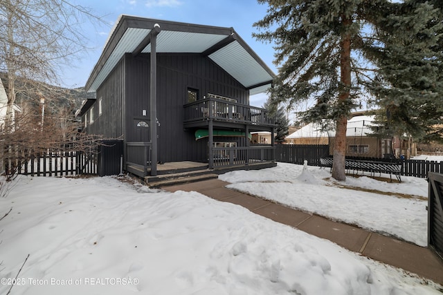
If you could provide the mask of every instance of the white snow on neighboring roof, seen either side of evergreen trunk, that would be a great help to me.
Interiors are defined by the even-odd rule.
[[[374,126],[374,115],[359,115],[347,120],[346,136],[368,136],[372,133],[370,126]],[[322,138],[334,137],[335,130],[321,131],[320,124],[309,123],[291,133],[287,139],[292,138]]]

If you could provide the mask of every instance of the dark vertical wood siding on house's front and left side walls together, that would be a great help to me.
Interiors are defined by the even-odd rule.
[[[248,104],[248,90],[199,54],[158,54],[157,66],[159,161],[206,162],[207,140],[196,141],[194,130],[183,129],[188,88],[198,89],[199,98],[213,93],[237,99],[240,104]],[[102,115],[99,116],[100,97]],[[133,57],[127,53],[98,88],[96,99],[94,122],[88,124],[87,133],[125,142],[150,141],[150,55]],[[147,122],[149,128],[136,127],[141,121]]]

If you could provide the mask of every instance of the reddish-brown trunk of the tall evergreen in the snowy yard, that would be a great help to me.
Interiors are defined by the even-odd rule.
[[[343,26],[345,33],[341,39],[340,53],[340,82],[341,91],[338,94],[338,105],[343,104],[350,97],[351,86],[351,37],[346,27],[352,24],[349,17],[343,15]],[[334,164],[332,166],[332,177],[343,181],[346,179],[345,155],[346,155],[346,129],[347,129],[347,111],[344,111],[336,120],[336,135],[334,140]]]

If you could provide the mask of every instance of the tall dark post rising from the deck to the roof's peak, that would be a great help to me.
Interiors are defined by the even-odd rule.
[[[151,107],[151,175],[157,175],[157,35],[161,28],[158,23],[151,30],[151,69],[150,69],[150,107]],[[147,163],[145,163],[146,165]],[[144,166],[145,166],[144,165]]]

